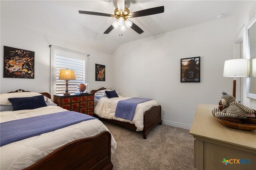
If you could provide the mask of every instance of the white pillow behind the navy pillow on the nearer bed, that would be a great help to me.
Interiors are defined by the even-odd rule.
[[[42,95],[42,94],[36,93],[36,92],[3,93],[3,94],[0,94],[0,105],[12,105],[11,102],[9,102],[8,98],[25,98],[25,97],[33,97],[33,96],[39,96],[39,95]],[[44,101],[50,102],[51,100],[44,96]]]

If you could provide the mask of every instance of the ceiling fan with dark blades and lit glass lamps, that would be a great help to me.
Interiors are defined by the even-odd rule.
[[[108,27],[108,29],[104,32],[104,34],[110,33],[112,29],[118,27],[120,25],[121,31],[126,31],[126,27],[132,28],[138,34],[143,33],[144,31],[140,29],[135,23],[129,20],[129,18],[135,17],[142,17],[142,16],[150,16],[154,14],[159,14],[164,12],[164,6],[158,6],[155,8],[148,8],[146,10],[141,10],[137,12],[131,12],[128,8],[125,8],[124,0],[116,0],[117,8],[114,10],[114,15],[112,14],[105,14],[100,12],[90,12],[90,11],[79,11],[80,14],[89,14],[89,15],[96,15],[96,16],[107,16],[107,17],[114,17],[117,20]]]

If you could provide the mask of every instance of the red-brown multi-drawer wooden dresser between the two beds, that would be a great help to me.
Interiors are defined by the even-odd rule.
[[[71,94],[64,96],[63,94],[54,95],[54,103],[58,106],[80,113],[94,115],[94,94]]]

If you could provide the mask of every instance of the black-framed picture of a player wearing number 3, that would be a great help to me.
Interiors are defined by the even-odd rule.
[[[200,82],[200,57],[180,59],[180,82]]]

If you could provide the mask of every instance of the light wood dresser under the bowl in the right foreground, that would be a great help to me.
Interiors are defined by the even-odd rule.
[[[195,139],[194,166],[197,170],[255,170],[256,130],[225,127],[213,117],[214,107],[198,104],[196,109],[190,128]]]

